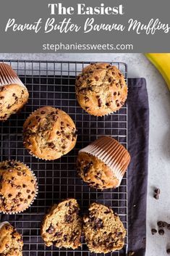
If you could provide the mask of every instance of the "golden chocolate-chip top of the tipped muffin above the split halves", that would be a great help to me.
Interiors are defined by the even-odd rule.
[[[80,152],[77,157],[77,172],[83,181],[96,189],[116,188],[119,179],[104,162],[92,154]]]

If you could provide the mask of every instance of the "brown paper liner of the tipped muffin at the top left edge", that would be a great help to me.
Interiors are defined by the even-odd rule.
[[[12,70],[12,67],[6,63],[0,63],[0,87],[7,86],[9,84],[17,84],[26,88],[26,86],[22,83],[17,74]]]

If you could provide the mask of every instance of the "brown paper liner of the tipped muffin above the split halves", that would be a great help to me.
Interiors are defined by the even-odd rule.
[[[127,149],[119,144],[116,139],[109,136],[101,136],[79,151],[79,153],[82,152],[91,154],[104,162],[119,180],[117,187],[120,185],[129,165],[130,156]]]

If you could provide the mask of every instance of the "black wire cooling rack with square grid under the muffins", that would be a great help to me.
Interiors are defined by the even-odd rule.
[[[75,171],[78,151],[98,136],[113,136],[127,148],[127,104],[118,112],[104,117],[94,117],[82,110],[75,99],[75,76],[90,62],[5,62],[12,65],[20,75],[20,79],[27,86],[30,98],[20,114],[12,115],[6,122],[0,123],[1,160],[20,160],[29,165],[38,177],[39,192],[38,198],[27,211],[17,215],[0,215],[0,220],[8,220],[23,235],[24,256],[89,256],[90,252],[83,237],[82,247],[75,251],[46,247],[40,234],[41,220],[48,207],[61,199],[75,197],[82,214],[87,211],[91,202],[111,206],[127,229],[127,173],[118,189],[98,191],[83,183]],[[127,65],[120,62],[111,64],[116,65],[127,80]],[[22,125],[25,119],[31,112],[44,105],[59,107],[67,112],[75,121],[78,130],[75,149],[55,161],[32,157],[22,144]],[[127,236],[124,248],[109,255],[127,255]]]

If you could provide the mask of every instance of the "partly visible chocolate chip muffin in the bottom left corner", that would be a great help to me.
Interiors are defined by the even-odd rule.
[[[0,255],[22,256],[22,236],[9,223],[0,225]]]

